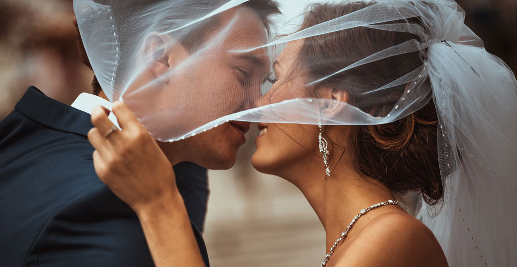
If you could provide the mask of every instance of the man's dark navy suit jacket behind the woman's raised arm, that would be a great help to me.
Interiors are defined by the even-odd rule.
[[[135,213],[95,173],[92,127],[34,87],[0,122],[0,266],[154,266]],[[206,170],[174,168],[208,265]]]

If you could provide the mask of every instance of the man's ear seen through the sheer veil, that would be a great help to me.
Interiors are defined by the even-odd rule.
[[[151,32],[144,39],[143,56],[147,69],[162,84],[169,84],[173,69],[188,58],[185,47],[159,32]]]

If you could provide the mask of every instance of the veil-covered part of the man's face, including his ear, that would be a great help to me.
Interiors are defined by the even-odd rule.
[[[269,74],[267,48],[230,52],[267,42],[257,14],[236,7],[218,15],[208,30],[196,40],[203,43],[190,49],[156,31],[144,39],[144,55],[150,58],[136,63],[139,74],[121,98],[157,138],[249,109],[261,96]]]

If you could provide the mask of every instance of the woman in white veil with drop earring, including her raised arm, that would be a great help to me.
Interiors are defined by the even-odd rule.
[[[389,3],[409,2],[409,6],[401,4],[400,9],[376,10],[386,12],[386,17],[390,17],[391,11],[418,10],[427,5],[429,12],[439,14],[444,11],[440,3],[454,3],[445,0],[428,4],[421,1]],[[500,86],[503,93],[494,89],[491,93],[495,96],[484,95],[486,98],[481,101],[490,102],[490,97],[494,97],[509,105],[505,108],[515,110],[513,74],[503,62],[476,47],[479,44],[476,39],[465,39],[466,27],[458,18],[459,7],[460,11],[454,10],[449,20],[438,20],[443,16],[426,18],[422,13],[421,16],[414,14],[385,20],[387,23],[303,35],[307,29],[326,22],[354,18],[347,15],[367,16],[373,11],[364,10],[375,6],[375,3],[364,2],[314,4],[304,14],[299,30],[280,39],[289,41],[273,63],[273,86],[257,99],[255,110],[294,98],[306,99],[308,103],[324,99],[327,101],[318,102],[321,105],[317,112],[326,119],[320,125],[295,123],[299,122],[295,119],[288,121],[291,123],[278,123],[264,119],[267,118],[265,114],[258,120],[261,133],[255,140],[254,168],[292,182],[306,196],[326,231],[328,254],[322,257],[322,266],[463,266],[468,265],[467,262],[488,266],[490,260],[512,264],[508,252],[515,248],[515,229],[508,230],[510,240],[494,237],[501,243],[494,247],[498,254],[485,248],[489,253],[479,256],[477,251],[472,252],[475,245],[456,239],[471,235],[463,233],[462,226],[471,219],[477,220],[479,232],[492,232],[494,226],[482,228],[486,218],[477,217],[478,213],[489,209],[481,204],[476,204],[479,210],[476,205],[464,208],[463,212],[476,215],[472,218],[463,213],[463,218],[455,215],[460,214],[462,208],[457,213],[452,210],[457,210],[455,205],[460,205],[457,204],[460,201],[476,196],[472,193],[462,195],[460,190],[467,192],[473,186],[484,185],[476,181],[485,178],[484,174],[476,173],[473,168],[479,167],[468,160],[472,158],[477,163],[483,158],[479,164],[486,170],[497,167],[510,170],[509,165],[503,165],[505,162],[491,165],[495,163],[490,161],[493,159],[490,156],[495,154],[484,148],[483,135],[497,137],[496,133],[502,133],[509,138],[507,133],[514,130],[498,125],[499,121],[484,121],[484,118],[493,118],[482,112],[476,113],[477,107],[472,107],[478,105],[476,101],[462,102],[468,97],[461,98],[461,90],[468,89],[469,94],[475,95],[476,90]],[[412,49],[415,43],[420,45]],[[403,47],[404,52],[394,47]],[[491,68],[509,73],[500,73],[495,79],[498,84],[494,84],[494,79],[487,74]],[[480,83],[478,78],[486,84]],[[498,98],[504,94],[509,98]],[[410,103],[402,104],[407,102]],[[306,107],[313,107],[311,105]],[[358,109],[363,113],[352,113]],[[489,108],[483,110],[496,112]],[[203,266],[183,201],[170,172],[171,165],[166,159],[146,156],[159,154],[159,148],[124,103],[114,103],[113,112],[125,134],[118,135],[116,140],[106,140],[103,136],[90,139],[97,151],[94,163],[99,178],[138,214],[157,266]],[[473,114],[481,114],[479,118],[483,116],[482,122],[486,125],[495,125],[492,128],[497,128],[496,133],[491,131],[492,128],[476,125],[477,117]],[[372,123],[375,120],[380,122]],[[511,119],[506,122],[515,124]],[[479,133],[474,130],[476,127],[484,127],[484,130]],[[137,141],[141,144],[142,140],[146,140],[146,145],[133,146]],[[497,143],[498,140],[494,140],[490,146],[503,149],[501,153],[506,153],[511,160],[515,154],[514,139],[500,140],[505,141]],[[506,141],[509,147],[501,147],[500,144]],[[472,153],[474,148],[479,149],[476,159]],[[463,185],[464,181],[472,184]],[[419,218],[429,222],[433,231],[442,233],[441,236],[405,212],[397,199],[410,192],[419,193],[423,199]],[[490,191],[483,196],[498,192]],[[508,194],[501,192],[501,195],[486,201],[495,202],[500,199],[496,197],[506,197],[503,199],[511,202]],[[435,215],[433,211],[439,214],[429,216]],[[512,229],[514,211],[503,213],[494,208],[491,212],[505,214],[510,224],[507,229]],[[442,220],[441,223],[438,220]],[[499,233],[502,231],[499,229]],[[447,243],[440,244],[435,235]],[[472,240],[470,236],[466,238],[468,242],[477,241],[474,241],[474,233],[472,235]],[[494,242],[481,239],[483,241]],[[472,248],[462,247],[463,244]],[[481,245],[475,247],[479,250]],[[508,258],[497,258],[506,256]]]

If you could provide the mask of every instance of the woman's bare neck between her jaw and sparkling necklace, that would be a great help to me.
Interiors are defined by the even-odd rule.
[[[284,177],[301,190],[320,218],[327,235],[327,251],[361,209],[393,199],[393,194],[381,182],[360,177],[347,161],[343,158],[337,165],[331,165],[331,177],[324,178],[323,161],[306,162],[300,165],[299,171],[291,172],[293,177]],[[358,232],[376,214],[392,208],[372,210],[364,219],[357,220],[354,231]]]

